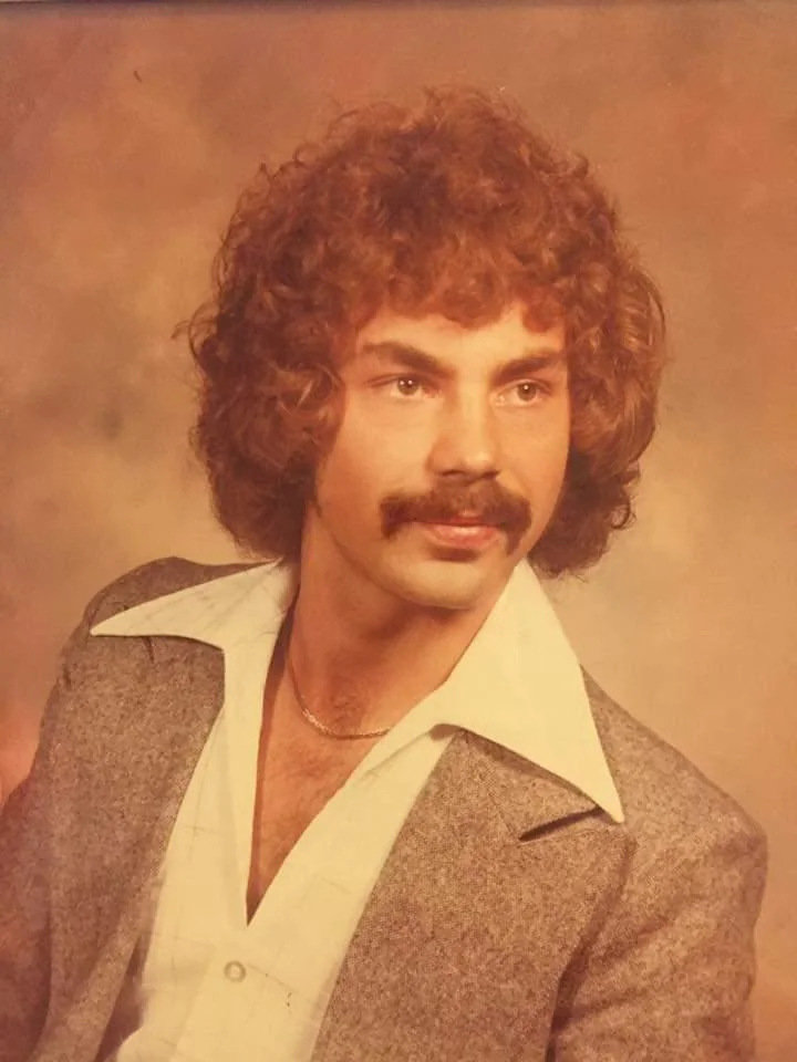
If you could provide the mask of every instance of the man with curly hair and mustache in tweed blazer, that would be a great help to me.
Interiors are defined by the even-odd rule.
[[[760,831],[537,579],[629,522],[662,363],[587,165],[469,92],[349,115],[245,195],[189,334],[260,563],[145,565],[66,647],[0,1059],[751,1059]]]

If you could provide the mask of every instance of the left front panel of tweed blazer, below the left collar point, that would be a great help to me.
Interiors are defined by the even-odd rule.
[[[53,749],[64,798],[52,825],[49,1025],[65,1014],[71,1031],[83,1029],[89,1038],[89,1056],[118,995],[152,882],[221,706],[224,658],[185,639],[125,638],[122,648],[116,638],[99,637],[75,670],[75,704],[63,712],[69,741],[56,740]]]

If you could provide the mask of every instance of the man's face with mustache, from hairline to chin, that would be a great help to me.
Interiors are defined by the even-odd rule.
[[[425,607],[497,595],[565,478],[561,327],[527,327],[519,305],[477,329],[382,312],[339,373],[343,414],[318,469],[302,568],[318,561]]]

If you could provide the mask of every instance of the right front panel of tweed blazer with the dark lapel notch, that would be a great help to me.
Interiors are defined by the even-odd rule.
[[[557,986],[628,834],[465,732],[415,802],[352,938],[313,1062],[545,1056]]]

